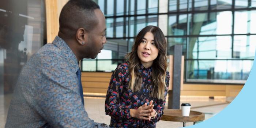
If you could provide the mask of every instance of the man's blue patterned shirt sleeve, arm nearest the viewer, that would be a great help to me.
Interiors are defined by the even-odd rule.
[[[69,70],[65,60],[50,59],[61,60],[56,56],[50,54],[40,61],[40,78],[34,80],[34,108],[51,127],[100,128],[84,109],[75,72]]]

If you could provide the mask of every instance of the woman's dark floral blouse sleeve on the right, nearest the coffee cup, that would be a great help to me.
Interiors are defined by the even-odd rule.
[[[158,122],[161,119],[162,115],[163,115],[163,109],[165,108],[166,95],[168,93],[169,80],[170,80],[169,72],[166,72],[165,100],[157,99],[157,102],[154,104],[155,105],[154,109],[155,109],[155,112],[157,112],[157,117],[154,118],[152,121],[155,122],[155,123]]]

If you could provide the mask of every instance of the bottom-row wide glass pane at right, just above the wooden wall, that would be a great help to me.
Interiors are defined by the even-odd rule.
[[[246,80],[252,63],[252,60],[188,60],[187,81],[195,82],[193,79],[197,79],[197,82],[200,82],[199,79],[205,79],[202,82],[214,82],[213,79],[218,79],[217,82]]]

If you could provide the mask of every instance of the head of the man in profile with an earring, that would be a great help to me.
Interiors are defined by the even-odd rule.
[[[94,59],[106,43],[105,16],[91,0],[69,0],[60,13],[59,36],[78,60]]]

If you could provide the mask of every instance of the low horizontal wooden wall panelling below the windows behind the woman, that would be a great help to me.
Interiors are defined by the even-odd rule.
[[[106,93],[112,72],[82,72],[85,93]],[[243,85],[228,84],[183,84],[181,95],[236,97]]]

